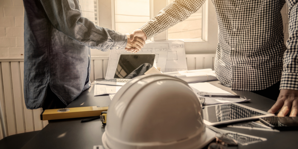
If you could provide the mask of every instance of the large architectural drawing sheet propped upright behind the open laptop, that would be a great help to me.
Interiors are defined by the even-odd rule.
[[[126,50],[111,50],[105,79],[114,78],[121,54],[132,54]],[[161,72],[187,71],[184,42],[166,40],[150,42],[137,54],[155,54],[153,66],[160,67]]]

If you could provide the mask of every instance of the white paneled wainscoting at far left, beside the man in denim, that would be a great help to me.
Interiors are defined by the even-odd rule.
[[[40,120],[41,108],[36,110],[28,110],[26,108],[23,80],[23,59],[1,60],[0,102],[8,136],[41,130],[48,124],[48,121]],[[0,139],[2,137],[0,136]]]

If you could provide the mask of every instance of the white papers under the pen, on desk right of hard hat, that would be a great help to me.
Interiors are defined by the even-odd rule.
[[[223,104],[230,102],[248,102],[250,99],[244,98],[224,98],[224,97],[205,97],[204,94],[217,94],[217,95],[233,95],[219,87],[216,87],[208,82],[202,83],[189,83],[189,86],[193,89],[194,93],[198,97],[205,98],[205,105]],[[198,94],[199,92],[199,94]]]

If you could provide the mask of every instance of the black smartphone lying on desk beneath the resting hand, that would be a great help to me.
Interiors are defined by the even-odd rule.
[[[259,118],[259,120],[273,128],[277,129],[280,131],[292,131],[292,130],[298,130],[298,117],[264,117],[264,118]]]

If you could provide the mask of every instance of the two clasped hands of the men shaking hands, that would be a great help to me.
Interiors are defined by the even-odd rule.
[[[133,31],[132,34],[127,34],[127,44],[125,50],[131,53],[139,52],[146,44],[147,36],[142,29]]]

